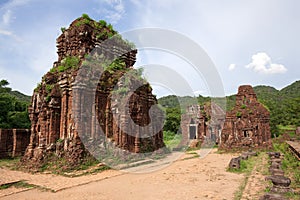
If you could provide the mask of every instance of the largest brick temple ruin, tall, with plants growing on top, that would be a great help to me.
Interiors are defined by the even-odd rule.
[[[155,126],[162,120],[162,114],[154,113],[155,119],[148,116],[151,106],[157,104],[148,83],[138,83],[141,86],[132,93],[128,99],[129,109],[121,116],[117,107],[124,102],[112,99],[112,91],[118,90],[120,85],[119,79],[126,73],[134,72],[132,66],[137,54],[137,50],[129,47],[128,42],[120,37],[110,43],[104,42],[116,33],[103,21],[96,22],[82,16],[57,38],[58,60],[43,76],[32,96],[29,108],[31,136],[23,157],[24,163],[39,162],[46,152],[55,152],[71,161],[80,160],[85,155],[83,137],[93,143],[101,143],[101,136],[104,135],[106,142],[134,153],[151,152],[164,146],[163,133]],[[111,70],[100,66],[98,71],[90,72],[82,66],[86,65],[87,55],[91,54],[101,55],[103,59],[109,58],[111,61],[118,60],[120,65],[114,64]],[[97,73],[101,77],[97,77]],[[96,92],[87,84],[95,77]],[[141,80],[130,80],[128,87],[138,81]],[[92,92],[96,94],[91,95]],[[96,108],[92,109],[87,104],[95,104]],[[114,119],[116,116],[118,120]],[[144,129],[143,133],[139,131],[142,129],[134,129],[134,133],[124,132],[121,127],[131,130],[128,127],[129,118],[139,126],[151,124],[146,130],[150,132],[149,137],[140,137],[147,135]]]

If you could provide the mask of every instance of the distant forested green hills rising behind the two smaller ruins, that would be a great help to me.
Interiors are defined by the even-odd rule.
[[[256,92],[258,101],[270,110],[271,129],[273,133],[278,132],[277,125],[300,126],[300,81],[296,81],[281,90],[270,86],[255,86],[254,91]],[[162,97],[158,102],[170,109],[179,106],[178,100],[192,102],[191,98],[172,95]],[[209,100],[209,97],[197,97],[199,104],[203,104]],[[226,100],[227,110],[232,109],[235,105],[235,95],[227,96]],[[188,102],[185,104],[188,104]],[[183,105],[182,102],[181,105]]]

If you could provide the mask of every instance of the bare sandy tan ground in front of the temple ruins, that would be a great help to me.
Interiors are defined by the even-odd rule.
[[[176,162],[151,173],[108,170],[95,175],[68,178],[51,174],[27,174],[0,169],[0,180],[26,180],[53,190],[5,189],[0,199],[218,199],[231,200],[244,176],[226,172],[232,154],[216,150],[203,158],[185,154]]]

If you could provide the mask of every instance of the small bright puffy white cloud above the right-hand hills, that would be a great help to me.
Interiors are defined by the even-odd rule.
[[[282,64],[272,63],[271,58],[264,52],[252,56],[252,62],[245,66],[261,74],[282,74],[287,71]]]

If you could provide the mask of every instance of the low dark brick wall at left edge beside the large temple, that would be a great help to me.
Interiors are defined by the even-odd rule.
[[[0,129],[0,159],[24,155],[29,140],[29,129]]]

